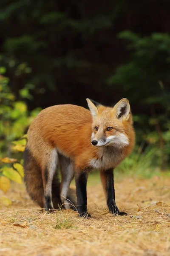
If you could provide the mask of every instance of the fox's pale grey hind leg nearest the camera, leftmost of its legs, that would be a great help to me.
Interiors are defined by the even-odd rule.
[[[48,155],[48,163],[46,163],[43,170],[43,186],[44,186],[44,209],[45,211],[52,211],[54,209],[52,202],[52,181],[54,174],[56,173],[58,163],[57,149],[51,150]]]

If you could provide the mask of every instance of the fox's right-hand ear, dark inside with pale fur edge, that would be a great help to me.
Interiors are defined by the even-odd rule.
[[[116,116],[120,121],[122,121],[123,119],[128,120],[130,116],[130,104],[128,99],[121,99],[113,107],[113,110],[116,111]]]

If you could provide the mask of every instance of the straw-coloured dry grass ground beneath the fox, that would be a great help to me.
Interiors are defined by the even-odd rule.
[[[24,186],[8,191],[0,209],[0,256],[169,256],[170,177],[116,179],[116,202],[127,216],[108,213],[98,178],[88,185],[91,219],[71,210],[38,212]]]

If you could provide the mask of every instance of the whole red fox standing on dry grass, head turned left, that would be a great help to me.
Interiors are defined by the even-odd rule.
[[[88,218],[88,173],[99,169],[109,211],[126,215],[115,203],[113,169],[132,152],[135,143],[129,101],[121,99],[114,107],[105,107],[86,100],[90,111],[56,105],[42,110],[31,123],[24,152],[27,191],[47,211],[59,204],[74,208],[72,202],[79,217]],[[58,163],[61,184],[56,175]],[[77,203],[69,189],[74,176]]]

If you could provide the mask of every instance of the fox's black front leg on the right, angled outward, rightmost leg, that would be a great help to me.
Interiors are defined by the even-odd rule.
[[[114,179],[113,179],[113,169],[101,170],[100,177],[102,180],[103,189],[105,191],[108,209],[113,214],[127,215],[126,212],[120,212],[116,206],[115,202],[115,192],[114,192]]]

